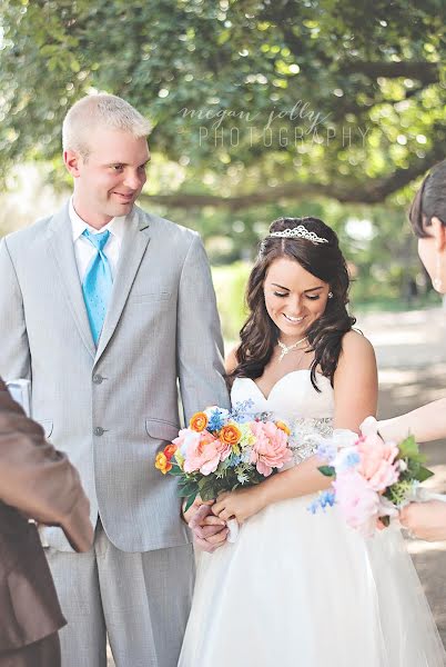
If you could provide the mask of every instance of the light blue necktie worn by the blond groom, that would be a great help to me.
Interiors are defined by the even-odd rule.
[[[83,236],[98,250],[87,269],[82,283],[83,299],[89,315],[91,332],[94,344],[98,345],[113,285],[110,263],[103,252],[110,237],[110,231],[91,233],[91,231],[85,229]]]

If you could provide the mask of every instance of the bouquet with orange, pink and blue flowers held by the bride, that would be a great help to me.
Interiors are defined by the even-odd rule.
[[[156,455],[155,467],[179,477],[185,509],[197,495],[212,500],[222,491],[259,484],[291,460],[286,424],[266,415],[249,419],[249,404],[195,412],[189,428]]]

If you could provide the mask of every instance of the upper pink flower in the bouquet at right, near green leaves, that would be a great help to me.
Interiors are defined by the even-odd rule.
[[[359,437],[357,451],[361,456],[358,471],[369,481],[375,491],[384,491],[398,481],[395,459],[398,448],[393,442],[385,442],[377,434]]]

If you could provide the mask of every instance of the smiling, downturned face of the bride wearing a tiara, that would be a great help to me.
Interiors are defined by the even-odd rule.
[[[300,263],[281,257],[270,266],[263,285],[266,310],[283,342],[298,340],[326,307],[330,286]]]

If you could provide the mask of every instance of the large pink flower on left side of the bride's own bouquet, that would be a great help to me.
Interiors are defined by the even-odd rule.
[[[225,449],[222,442],[207,430],[197,432],[183,429],[173,442],[181,448],[184,456],[184,472],[196,472],[196,470],[202,475],[215,472]]]

